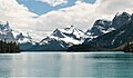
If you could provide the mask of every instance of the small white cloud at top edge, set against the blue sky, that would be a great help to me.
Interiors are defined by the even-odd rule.
[[[62,4],[62,3],[66,3],[68,0],[40,0],[42,2],[45,2],[52,7],[55,7],[55,6],[59,6],[59,4]]]

